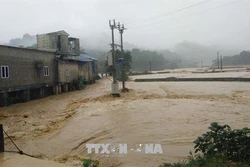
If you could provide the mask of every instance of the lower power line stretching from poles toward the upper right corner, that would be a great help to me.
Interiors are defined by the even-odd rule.
[[[197,15],[197,14],[209,12],[209,11],[212,11],[212,10],[216,10],[216,9],[219,9],[219,8],[223,8],[223,7],[226,7],[226,6],[229,6],[229,5],[238,3],[238,2],[240,2],[240,1],[241,1],[241,0],[236,0],[236,1],[233,1],[233,2],[230,2],[230,3],[227,3],[227,4],[224,4],[224,5],[220,5],[220,6],[217,6],[217,7],[214,7],[214,8],[210,8],[210,9],[207,9],[207,10],[203,10],[203,11],[200,11],[200,12],[196,12],[196,13],[187,15],[187,16],[185,16],[185,17],[178,17],[178,18],[163,20],[163,21],[160,21],[160,22],[156,22],[156,23],[154,23],[154,24],[151,24],[151,23],[150,23],[150,24],[144,24],[144,25],[140,25],[140,26],[134,26],[134,27],[130,27],[130,29],[131,29],[131,28],[142,28],[142,27],[147,27],[147,26],[156,25],[156,24],[160,25],[160,24],[165,23],[165,22],[170,21],[170,20],[176,20],[176,19],[186,18],[186,17],[190,17],[190,16]]]

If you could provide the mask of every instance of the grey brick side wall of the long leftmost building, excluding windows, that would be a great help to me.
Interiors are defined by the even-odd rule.
[[[41,68],[36,67],[37,63]],[[0,92],[56,82],[56,61],[52,52],[0,46],[0,66],[3,65],[9,66],[9,78],[0,77]],[[49,67],[49,76],[44,76],[44,66]]]

